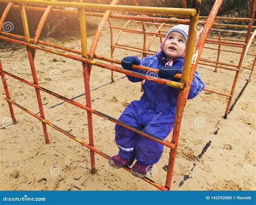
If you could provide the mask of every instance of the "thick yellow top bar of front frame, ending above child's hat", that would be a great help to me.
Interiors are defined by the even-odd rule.
[[[24,0],[0,0],[0,2],[15,2],[26,3],[34,5],[51,5],[51,6],[66,6],[78,9],[97,9],[97,10],[113,10],[121,12],[136,12],[136,13],[154,13],[174,16],[191,16],[194,17],[197,14],[196,9],[181,9],[181,8],[155,8],[149,6],[124,6],[124,5],[105,5],[105,4],[90,4],[80,2],[50,2],[50,1],[24,1]]]

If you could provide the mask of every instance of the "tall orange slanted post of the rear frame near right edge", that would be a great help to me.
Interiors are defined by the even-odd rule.
[[[250,22],[249,22],[249,25],[248,25],[246,38],[245,38],[245,45],[242,48],[242,54],[241,54],[240,61],[239,61],[239,64],[238,64],[238,71],[237,71],[237,73],[235,73],[233,86],[232,86],[231,92],[230,92],[231,97],[228,99],[228,102],[227,102],[227,107],[226,107],[226,111],[225,111],[225,115],[224,115],[225,119],[227,118],[228,110],[230,109],[230,105],[231,105],[231,101],[232,101],[232,98],[233,98],[235,86],[237,86],[238,76],[240,74],[242,63],[243,63],[244,58],[245,58],[246,48],[247,48],[248,41],[250,39],[250,35],[251,35],[251,31],[252,31],[252,24],[253,24],[253,21],[254,21],[254,12],[255,12],[255,0],[252,0],[252,2],[251,2],[251,17],[250,17]]]

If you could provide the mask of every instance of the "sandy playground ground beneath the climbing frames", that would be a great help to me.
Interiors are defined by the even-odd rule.
[[[99,22],[99,18],[93,22]],[[115,22],[123,26],[125,22]],[[129,27],[129,26],[128,26]],[[141,25],[131,24],[133,29],[141,30]],[[154,32],[156,27],[147,26]],[[93,32],[91,32],[93,33]],[[116,37],[118,31],[114,31]],[[87,38],[88,44],[93,36]],[[80,49],[79,38],[66,36],[58,41],[52,37],[47,41]],[[147,39],[149,42],[150,38]],[[120,44],[142,46],[143,37],[124,33]],[[110,33],[104,31],[97,47],[97,54],[110,56]],[[3,68],[26,80],[32,76],[23,46],[6,43],[0,44]],[[214,46],[214,45],[207,45]],[[216,47],[216,46],[215,46]],[[156,39],[152,50],[159,48]],[[225,48],[225,47],[224,47]],[[241,48],[226,47],[233,51]],[[255,46],[250,48],[255,53]],[[215,60],[216,51],[204,50],[203,58]],[[130,51],[116,50],[114,58],[122,59],[132,55]],[[142,57],[142,55],[139,55]],[[237,64],[238,55],[228,53],[221,55],[220,61]],[[245,60],[250,66],[252,56]],[[61,56],[37,51],[36,69],[39,84],[49,90],[66,96],[75,97],[84,93],[83,71],[80,62]],[[207,66],[198,67],[201,78],[208,89],[230,93],[234,72]],[[236,97],[244,84],[248,71],[241,73]],[[132,83],[123,74],[115,73],[115,82],[110,81],[110,70],[93,67],[91,72],[92,107],[114,118],[118,118],[124,108],[142,95],[139,83]],[[124,77],[124,78],[123,78]],[[11,77],[6,77],[12,100],[38,112],[35,89]],[[223,118],[227,98],[202,91],[198,97],[187,102],[181,126],[178,155],[174,167],[172,190],[254,190],[255,189],[255,77],[246,87],[233,111],[227,119]],[[86,111],[69,103],[51,108],[60,102],[56,97],[41,92],[46,119],[72,135],[88,142]],[[21,109],[14,108],[18,121],[9,125],[10,113],[3,86],[0,86],[0,186],[3,190],[157,190],[148,183],[134,178],[124,169],[113,169],[107,160],[96,154],[97,173],[90,173],[90,151],[74,140],[48,126],[50,144],[44,143],[42,123]],[[234,98],[235,98],[234,97]],[[254,99],[254,100],[253,100]],[[76,98],[85,103],[85,97]],[[233,99],[234,102],[234,99]],[[97,149],[114,155],[118,149],[114,143],[114,123],[93,115],[94,140]],[[171,135],[167,138],[171,140]],[[207,143],[210,146],[198,158]],[[254,151],[253,151],[254,150]],[[163,157],[153,168],[149,176],[164,185],[169,149],[164,150]]]

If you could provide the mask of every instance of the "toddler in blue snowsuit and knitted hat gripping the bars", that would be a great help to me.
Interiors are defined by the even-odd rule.
[[[127,56],[122,60],[124,69],[146,74],[145,71],[134,69],[132,65],[142,65],[159,69],[157,77],[168,80],[172,79],[176,73],[181,73],[186,52],[188,36],[187,25],[176,25],[170,29],[160,45],[160,51],[153,56],[146,56],[139,59],[137,56]],[[197,40],[198,41],[198,33]],[[143,79],[127,75],[132,82],[139,82]],[[174,126],[178,88],[172,88],[150,80],[145,80],[142,85],[144,93],[139,101],[132,101],[123,111],[119,120],[150,133],[161,139],[165,139]],[[196,71],[188,94],[188,99],[196,97],[205,84],[201,81]],[[116,124],[116,143],[119,154],[109,159],[109,164],[114,168],[130,166],[136,159],[136,163],[131,168],[131,173],[139,178],[144,178],[156,164],[164,150],[164,145],[149,138],[139,135],[121,125]]]

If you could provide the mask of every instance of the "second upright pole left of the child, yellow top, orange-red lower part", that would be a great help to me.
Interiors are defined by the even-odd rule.
[[[25,36],[25,41],[30,43],[30,35],[29,35],[29,26],[28,26],[28,20],[26,19],[26,11],[25,11],[25,6],[24,4],[20,4],[19,8],[21,10],[21,17],[22,17],[22,24],[23,24],[23,30],[24,30],[24,36]],[[31,49],[30,47],[26,47],[26,50],[28,52],[28,57],[29,57],[29,63],[30,63],[30,68],[33,76],[33,82],[34,84],[38,85],[38,79],[37,79],[37,74],[36,74],[36,68],[35,68],[35,49]],[[37,97],[37,102],[38,102],[38,108],[40,111],[40,115],[42,118],[44,118],[44,109],[43,109],[43,103],[42,103],[42,98],[40,94],[40,90],[38,88],[35,88],[36,90],[36,97]],[[46,128],[46,124],[42,121],[43,125],[43,130],[44,130],[44,138],[45,138],[45,143],[49,144],[50,140],[48,137],[48,131]]]

